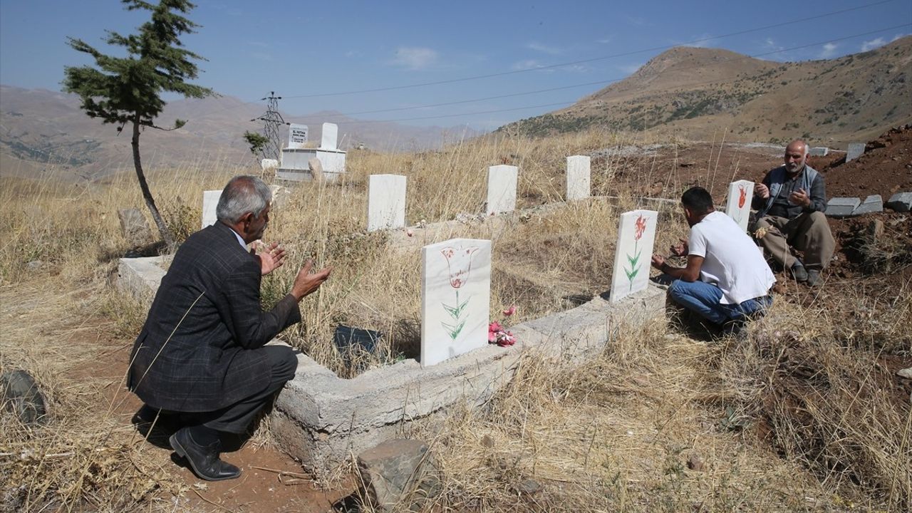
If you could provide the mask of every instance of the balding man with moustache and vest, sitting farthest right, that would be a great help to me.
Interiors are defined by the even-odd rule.
[[[784,164],[767,173],[753,190],[757,212],[755,236],[772,258],[796,281],[816,287],[836,247],[826,223],[824,177],[807,165],[808,147],[801,140],[785,148]],[[803,260],[792,249],[803,251]]]

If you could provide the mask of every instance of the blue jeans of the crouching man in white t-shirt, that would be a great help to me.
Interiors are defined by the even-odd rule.
[[[700,317],[716,324],[729,320],[742,320],[772,305],[772,297],[748,299],[740,305],[723,305],[719,301],[722,291],[715,285],[697,280],[676,279],[668,287],[668,294],[680,306],[696,312]]]

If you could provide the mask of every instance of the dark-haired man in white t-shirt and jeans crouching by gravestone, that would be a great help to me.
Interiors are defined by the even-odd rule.
[[[776,278],[751,237],[716,211],[706,189],[691,187],[681,205],[690,236],[671,252],[687,255],[687,267],[671,267],[661,255],[652,256],[652,266],[674,278],[668,294],[676,303],[725,333],[737,333],[747,318],[772,304]]]

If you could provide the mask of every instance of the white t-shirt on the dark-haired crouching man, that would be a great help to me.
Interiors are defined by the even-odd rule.
[[[690,255],[704,258],[700,280],[720,288],[723,305],[766,296],[776,282],[751,236],[719,211],[691,226],[688,245]]]

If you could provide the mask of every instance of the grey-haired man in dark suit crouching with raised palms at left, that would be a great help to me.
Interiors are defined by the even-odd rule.
[[[169,414],[182,427],[171,447],[203,479],[231,479],[241,470],[223,462],[219,433],[242,434],[255,415],[295,376],[297,359],[284,346],[266,346],[301,320],[298,302],[329,277],[308,262],[288,295],[260,307],[260,279],[282,266],[285,251],[247,245],[269,222],[269,187],[236,176],[216,207],[218,222],[181,245],[133,346],[128,387],[145,403],[140,418]]]

